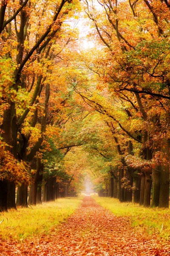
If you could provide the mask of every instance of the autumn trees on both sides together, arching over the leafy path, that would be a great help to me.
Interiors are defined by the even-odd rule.
[[[81,6],[91,49],[71,23]],[[44,201],[76,194],[85,173],[99,195],[150,206],[153,185],[152,206],[169,206],[169,3],[81,6],[2,1],[1,210],[16,183],[27,206],[28,184],[36,204],[42,187]]]

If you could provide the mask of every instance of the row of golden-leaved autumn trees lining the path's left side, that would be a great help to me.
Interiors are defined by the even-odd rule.
[[[76,176],[62,163],[75,145],[58,145],[57,140],[62,125],[74,115],[62,73],[68,63],[67,45],[77,33],[64,22],[78,9],[79,3],[70,0],[1,3],[1,210],[16,207],[16,184],[17,205],[27,206],[28,184],[29,203],[36,204],[40,184],[48,201],[57,196],[59,183],[62,191]],[[63,111],[65,107],[69,110]],[[56,195],[48,192],[51,189]]]

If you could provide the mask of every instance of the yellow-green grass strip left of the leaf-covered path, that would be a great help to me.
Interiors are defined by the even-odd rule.
[[[61,198],[32,208],[0,213],[0,238],[23,241],[54,231],[78,207],[82,198]]]

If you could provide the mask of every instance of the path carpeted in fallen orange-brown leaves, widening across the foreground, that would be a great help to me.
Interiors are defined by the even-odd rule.
[[[126,217],[85,196],[82,204],[50,235],[0,242],[0,256],[170,256],[170,244],[134,231]]]

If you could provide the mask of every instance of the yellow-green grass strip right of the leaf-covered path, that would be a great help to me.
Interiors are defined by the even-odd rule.
[[[92,197],[114,215],[128,217],[132,227],[139,232],[170,240],[170,209],[144,208],[138,204],[120,203],[115,198]]]

